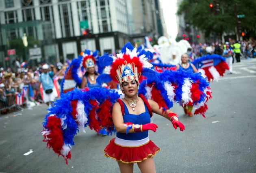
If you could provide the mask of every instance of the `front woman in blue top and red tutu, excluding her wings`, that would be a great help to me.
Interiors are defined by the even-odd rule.
[[[142,173],[156,172],[153,156],[160,149],[148,136],[148,130],[156,132],[158,128],[156,124],[150,123],[152,112],[167,118],[175,129],[185,129],[174,112],[164,110],[157,102],[138,95],[142,69],[139,58],[126,56],[117,58],[110,70],[112,79],[118,80],[124,98],[118,99],[113,105],[112,119],[117,136],[105,147],[104,154],[118,162],[121,173],[132,173],[134,163],[137,163]]]

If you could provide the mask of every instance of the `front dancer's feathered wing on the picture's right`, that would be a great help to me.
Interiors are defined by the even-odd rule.
[[[172,71],[163,69],[153,77],[143,81],[139,93],[153,99],[164,109],[173,107],[174,103],[193,103],[195,114],[205,117],[208,110],[206,103],[212,97],[210,84],[200,73]],[[157,79],[157,80],[155,80]]]

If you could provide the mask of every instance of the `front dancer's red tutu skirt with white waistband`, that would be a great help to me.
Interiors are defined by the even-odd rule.
[[[152,158],[160,151],[149,138],[139,141],[128,141],[120,138],[113,138],[105,147],[106,157],[115,159],[117,162],[137,163],[147,158]]]

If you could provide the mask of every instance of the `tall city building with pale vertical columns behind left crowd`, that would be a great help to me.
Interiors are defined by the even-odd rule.
[[[159,0],[1,0],[0,65],[64,63],[89,49],[118,53],[163,34]]]

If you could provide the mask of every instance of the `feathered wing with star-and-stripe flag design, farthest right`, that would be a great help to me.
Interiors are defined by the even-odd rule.
[[[229,69],[226,59],[220,55],[212,54],[202,56],[192,61],[193,65],[207,77],[208,81],[218,80]]]

